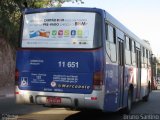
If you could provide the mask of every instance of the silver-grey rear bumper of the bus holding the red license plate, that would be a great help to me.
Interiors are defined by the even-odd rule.
[[[16,87],[16,93],[18,93],[16,94],[16,103],[19,104],[42,104],[75,109],[103,110],[104,93],[102,91],[93,90],[91,94],[54,93],[20,90]]]

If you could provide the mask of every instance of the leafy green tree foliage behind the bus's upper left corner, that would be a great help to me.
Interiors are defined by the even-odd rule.
[[[0,36],[14,47],[18,41],[21,11],[26,2],[32,8],[61,7],[65,2],[83,4],[82,0],[0,0]]]

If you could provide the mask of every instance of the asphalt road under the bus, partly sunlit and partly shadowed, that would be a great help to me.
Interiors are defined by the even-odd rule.
[[[148,102],[140,101],[133,104],[130,115],[121,112],[79,112],[39,105],[17,105],[13,97],[0,98],[0,115],[3,119],[12,120],[160,120],[160,90],[152,91]]]

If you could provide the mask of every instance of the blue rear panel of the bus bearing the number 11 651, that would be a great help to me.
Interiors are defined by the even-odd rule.
[[[21,90],[91,93],[93,74],[102,70],[102,50],[17,51]]]

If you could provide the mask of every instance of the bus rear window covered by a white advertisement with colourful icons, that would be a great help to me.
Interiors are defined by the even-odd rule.
[[[94,48],[95,23],[89,12],[25,14],[22,48]]]

